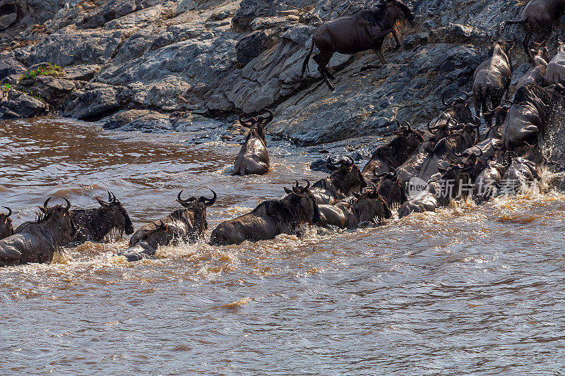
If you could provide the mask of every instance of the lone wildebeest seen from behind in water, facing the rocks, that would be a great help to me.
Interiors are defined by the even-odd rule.
[[[265,127],[273,121],[273,112],[269,109],[263,109],[262,112],[267,112],[267,114],[249,119],[243,119],[243,115],[239,116],[239,123],[249,128],[249,134],[242,150],[235,158],[233,175],[263,175],[269,171],[270,162]]]

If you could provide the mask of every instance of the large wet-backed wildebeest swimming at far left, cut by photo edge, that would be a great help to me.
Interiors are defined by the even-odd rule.
[[[51,262],[55,252],[61,250],[64,238],[75,234],[69,213],[71,202],[63,198],[66,206],[47,207],[49,200],[39,207],[41,213],[35,222],[26,222],[16,234],[0,240],[0,266]]]

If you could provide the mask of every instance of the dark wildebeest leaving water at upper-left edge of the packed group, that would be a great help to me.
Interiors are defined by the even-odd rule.
[[[371,178],[373,173],[385,174],[398,168],[424,141],[422,133],[412,129],[408,121],[406,126],[400,126],[398,123],[396,134],[398,135],[391,142],[376,148],[371,159],[361,171],[365,178]]]

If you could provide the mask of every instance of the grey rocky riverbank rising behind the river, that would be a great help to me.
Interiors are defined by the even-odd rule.
[[[361,72],[374,54],[336,54],[335,92],[313,62],[301,80],[316,25],[376,3],[0,0],[0,119],[58,112],[132,131],[220,127],[230,138],[235,115],[269,107],[268,132],[300,145],[383,135],[469,91],[489,36],[519,13],[513,1],[412,1],[417,18],[403,49],[386,49],[388,65]],[[525,54],[514,55],[518,80]],[[22,79],[47,64],[61,74]]]

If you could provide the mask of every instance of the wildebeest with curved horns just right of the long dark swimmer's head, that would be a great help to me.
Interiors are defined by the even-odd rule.
[[[328,158],[326,167],[332,171],[327,178],[322,178],[312,184],[311,192],[319,204],[333,204],[338,200],[349,197],[353,192],[367,186],[367,182],[359,166],[349,156],[335,162]]]

